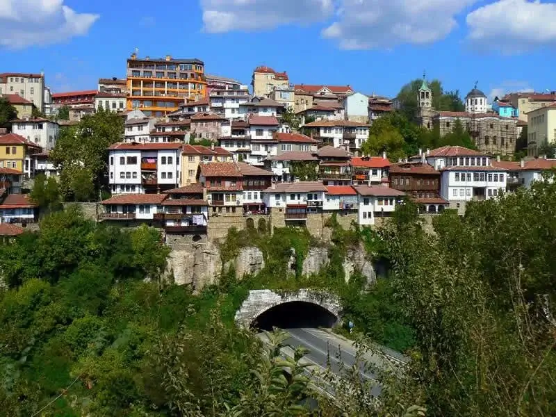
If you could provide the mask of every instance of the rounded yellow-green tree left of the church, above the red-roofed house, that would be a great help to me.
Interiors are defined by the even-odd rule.
[[[387,117],[381,117],[370,126],[369,138],[361,144],[361,152],[366,156],[386,155],[397,160],[406,156],[404,138]]]

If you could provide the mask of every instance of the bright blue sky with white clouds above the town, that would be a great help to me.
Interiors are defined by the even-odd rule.
[[[126,58],[204,60],[249,84],[257,65],[291,83],[395,97],[412,79],[462,96],[556,90],[556,2],[539,0],[0,0],[0,72],[44,71],[52,92],[124,78]]]

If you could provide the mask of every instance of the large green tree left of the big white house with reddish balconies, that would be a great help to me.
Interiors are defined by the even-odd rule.
[[[108,147],[119,142],[123,133],[122,119],[104,110],[60,130],[49,157],[60,170],[60,188],[65,199],[94,198],[108,182]]]

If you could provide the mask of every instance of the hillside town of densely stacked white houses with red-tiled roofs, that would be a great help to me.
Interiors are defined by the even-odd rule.
[[[471,146],[417,148],[399,158],[373,143],[380,140],[373,127],[404,111],[400,96],[294,83],[268,66],[256,67],[245,85],[206,74],[197,58],[134,53],[126,78],[101,78],[95,89],[51,92],[45,80],[44,73],[0,74],[0,97],[17,113],[0,128],[1,234],[38,221],[40,207],[28,195],[33,179],[58,176],[49,154],[62,146],[60,131],[99,112],[117,115],[124,131],[106,149],[109,197],[98,199],[97,220],[195,238],[222,238],[232,226],[302,226],[320,236],[332,215],[373,226],[404,197],[423,215],[446,208],[461,215],[468,202],[530,188],[556,167],[546,152],[556,144],[556,92],[489,102],[475,85],[461,111],[443,111],[423,74],[412,126],[439,140],[459,129]]]

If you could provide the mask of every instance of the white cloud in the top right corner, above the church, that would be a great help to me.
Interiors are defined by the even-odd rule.
[[[556,44],[556,4],[529,0],[499,0],[469,13],[468,40],[477,48],[519,54],[544,44]]]

